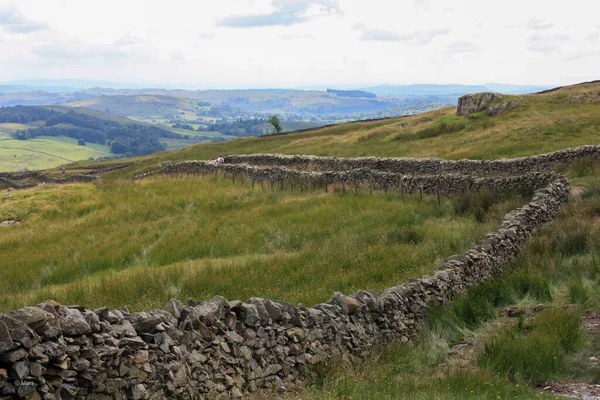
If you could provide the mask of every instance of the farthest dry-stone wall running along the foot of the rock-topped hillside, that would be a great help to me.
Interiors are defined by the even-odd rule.
[[[306,170],[347,171],[368,168],[406,175],[461,173],[469,175],[518,175],[545,171],[556,164],[571,164],[591,157],[600,160],[600,145],[579,146],[532,157],[500,160],[443,160],[440,158],[318,157],[281,154],[229,155],[226,163],[273,165]]]

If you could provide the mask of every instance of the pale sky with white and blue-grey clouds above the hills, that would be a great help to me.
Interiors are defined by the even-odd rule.
[[[600,79],[600,2],[0,0],[0,82],[196,89]]]

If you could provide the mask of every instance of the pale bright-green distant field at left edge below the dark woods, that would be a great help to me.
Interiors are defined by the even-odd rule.
[[[4,139],[0,140],[0,171],[47,169],[111,154],[106,146],[79,146],[77,139],[64,136],[38,136],[27,141]]]

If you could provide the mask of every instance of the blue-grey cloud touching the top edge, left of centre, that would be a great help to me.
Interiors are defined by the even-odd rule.
[[[257,28],[290,26],[312,18],[341,14],[337,0],[273,0],[275,11],[259,15],[235,15],[217,20],[218,26],[228,28]]]

